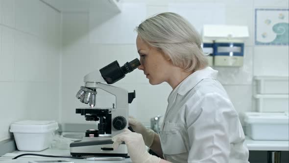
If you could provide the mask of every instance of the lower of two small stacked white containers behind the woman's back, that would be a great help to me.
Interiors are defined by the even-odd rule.
[[[288,112],[289,111],[289,95],[274,94],[254,96],[256,99],[256,108],[260,112]]]

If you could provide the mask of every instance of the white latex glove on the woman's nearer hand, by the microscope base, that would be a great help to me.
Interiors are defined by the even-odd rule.
[[[150,155],[145,149],[143,136],[124,129],[123,133],[112,138],[114,149],[118,149],[122,141],[125,142],[130,159],[133,163],[160,163],[161,158]]]

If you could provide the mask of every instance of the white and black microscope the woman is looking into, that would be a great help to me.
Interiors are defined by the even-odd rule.
[[[138,58],[126,62],[120,67],[118,61],[114,61],[100,70],[93,71],[84,77],[85,86],[81,86],[76,94],[80,102],[89,104],[90,108],[78,108],[76,113],[85,116],[87,121],[96,121],[97,129],[86,130],[81,140],[70,144],[70,153],[75,157],[89,156],[118,156],[126,157],[127,147],[120,144],[118,149],[112,148],[112,137],[123,132],[128,127],[128,103],[135,98],[135,91],[108,85],[122,79],[125,74],[132,72],[141,65]],[[104,82],[108,83],[105,84]],[[116,98],[116,104],[112,108],[96,108],[97,89],[102,89]]]

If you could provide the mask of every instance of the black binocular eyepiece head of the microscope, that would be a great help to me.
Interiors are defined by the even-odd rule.
[[[138,58],[135,58],[134,60],[130,62],[126,62],[121,67],[118,61],[116,60],[108,64],[107,66],[101,68],[99,72],[101,76],[103,77],[103,79],[108,84],[112,84],[122,79],[125,76],[125,74],[132,72],[134,69],[136,69],[140,65],[141,63]]]

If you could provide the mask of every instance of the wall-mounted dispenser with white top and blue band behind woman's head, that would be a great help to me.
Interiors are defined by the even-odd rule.
[[[213,41],[213,65],[243,65],[244,40],[249,37],[246,26],[204,25],[203,39]]]

